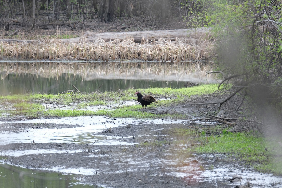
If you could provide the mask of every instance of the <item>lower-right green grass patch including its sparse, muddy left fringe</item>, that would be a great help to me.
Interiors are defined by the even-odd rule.
[[[215,128],[215,131],[219,127]],[[232,133],[223,130],[223,134],[208,135],[204,131],[191,129],[172,129],[167,134],[173,135],[171,145],[180,148],[175,155],[224,154],[228,159],[243,161],[263,173],[282,175],[282,138],[265,138],[261,134],[250,132]]]

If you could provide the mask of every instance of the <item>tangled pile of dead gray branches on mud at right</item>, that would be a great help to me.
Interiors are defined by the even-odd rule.
[[[258,130],[263,132],[267,129],[266,125],[257,120],[258,117],[252,116],[251,110],[242,105],[243,95],[237,94],[235,97],[229,98],[234,91],[222,90],[213,94],[188,99],[187,101],[196,105],[197,111],[202,114],[201,118],[186,119],[188,127],[208,134],[221,134],[223,130],[226,132],[241,132]],[[220,103],[223,99],[227,99],[224,103]],[[220,125],[220,129],[216,132],[214,127]],[[213,128],[212,128],[213,127]]]

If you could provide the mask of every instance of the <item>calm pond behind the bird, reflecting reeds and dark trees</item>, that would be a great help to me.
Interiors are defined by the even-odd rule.
[[[217,82],[205,76],[207,62],[0,62],[0,94],[58,94],[127,88],[181,88],[187,81]],[[75,87],[75,88],[74,88]],[[75,90],[76,90],[75,89]]]

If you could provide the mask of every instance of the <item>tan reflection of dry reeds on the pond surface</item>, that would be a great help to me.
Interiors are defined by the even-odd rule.
[[[133,75],[133,74],[154,74],[154,75],[182,75],[191,72],[203,72],[210,70],[209,62],[111,62],[111,63],[1,63],[1,78],[9,73],[23,74],[31,73],[45,78],[60,76],[63,73],[78,74],[87,79],[89,75]],[[4,77],[3,77],[4,76]]]

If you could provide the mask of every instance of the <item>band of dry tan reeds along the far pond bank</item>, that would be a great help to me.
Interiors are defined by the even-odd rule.
[[[212,56],[208,52],[211,42],[208,40],[191,42],[183,39],[134,43],[128,38],[124,41],[105,42],[98,39],[94,42],[61,43],[56,39],[44,38],[38,43],[3,43],[0,42],[1,58],[22,59],[91,59],[109,61],[115,59],[142,59],[145,61],[183,61],[200,60]]]

